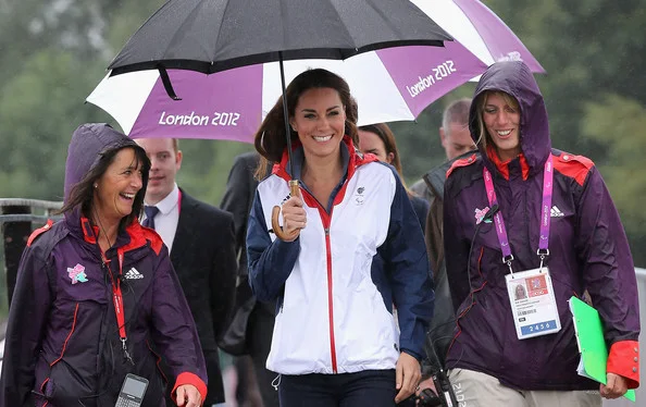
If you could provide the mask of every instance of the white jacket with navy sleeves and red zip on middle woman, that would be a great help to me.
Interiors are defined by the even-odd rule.
[[[326,208],[301,184],[308,224],[294,242],[271,231],[272,208],[289,196],[286,159],[256,193],[249,281],[258,299],[278,299],[266,361],[278,373],[394,369],[400,350],[424,354],[434,294],[415,212],[392,166],[360,156],[348,137],[341,153],[346,175]],[[301,163],[298,148],[297,177]]]

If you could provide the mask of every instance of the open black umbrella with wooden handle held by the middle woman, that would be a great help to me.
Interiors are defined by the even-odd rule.
[[[170,0],[131,37],[109,69],[112,75],[157,69],[167,95],[177,99],[169,69],[211,74],[278,61],[289,146],[284,61],[343,60],[389,47],[442,46],[450,39],[410,1]],[[233,125],[233,120],[225,123]],[[291,165],[291,149],[287,151]],[[289,186],[296,195],[298,181]],[[276,236],[293,238],[278,226],[276,208]]]

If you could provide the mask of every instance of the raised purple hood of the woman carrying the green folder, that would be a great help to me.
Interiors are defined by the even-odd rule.
[[[520,144],[530,168],[530,173],[543,170],[551,151],[547,109],[534,75],[522,61],[496,62],[482,75],[469,112],[471,137],[477,141],[479,130],[476,107],[479,97],[486,90],[501,90],[515,98],[520,104]],[[486,151],[479,145],[480,152],[489,171],[495,169]]]

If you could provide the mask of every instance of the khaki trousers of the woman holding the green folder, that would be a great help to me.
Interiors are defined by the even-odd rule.
[[[598,391],[517,391],[500,384],[493,375],[452,369],[449,379],[458,407],[600,407]]]

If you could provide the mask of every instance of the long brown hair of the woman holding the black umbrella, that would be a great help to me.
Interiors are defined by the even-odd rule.
[[[291,81],[285,89],[287,96],[287,114],[293,118],[300,96],[310,89],[331,88],[338,92],[338,96],[346,111],[346,135],[350,136],[355,146],[359,145],[357,135],[357,103],[350,95],[348,83],[340,76],[323,70],[308,70],[299,74]],[[261,156],[260,163],[256,170],[256,177],[264,177],[269,162],[279,162],[285,151],[285,118],[283,115],[283,97],[276,101],[276,104],[270,110],[266,118],[262,121],[260,128],[254,135],[256,150]],[[294,143],[298,140],[298,134],[290,132]]]

